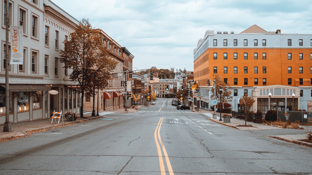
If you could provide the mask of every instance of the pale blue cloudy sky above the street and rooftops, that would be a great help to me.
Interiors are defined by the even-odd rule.
[[[193,71],[193,50],[206,30],[312,33],[311,0],[51,0],[89,19],[133,55],[133,70]]]

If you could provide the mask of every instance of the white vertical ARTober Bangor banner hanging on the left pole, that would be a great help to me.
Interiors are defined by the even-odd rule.
[[[23,64],[23,26],[10,26],[11,61],[10,64]]]

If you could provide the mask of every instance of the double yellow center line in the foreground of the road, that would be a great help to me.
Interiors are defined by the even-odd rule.
[[[158,151],[158,157],[159,157],[160,172],[161,172],[161,174],[166,174],[165,167],[164,167],[164,164],[163,164],[163,155],[161,153],[159,143],[160,143],[160,145],[162,147],[162,150],[163,150],[163,154],[164,154],[164,157],[165,157],[165,160],[166,160],[166,163],[167,163],[169,174],[170,175],[174,175],[172,167],[171,167],[171,164],[170,164],[170,161],[169,161],[169,157],[168,157],[167,151],[166,151],[165,146],[163,145],[163,142],[161,141],[161,138],[160,138],[160,127],[161,127],[162,122],[163,122],[163,117],[160,118],[160,120],[158,122],[158,125],[157,125],[157,127],[155,129],[155,132],[154,132],[154,138],[155,138],[156,147],[157,147],[157,151]],[[156,136],[156,131],[157,131],[157,136]],[[158,137],[159,143],[157,141],[157,137]]]

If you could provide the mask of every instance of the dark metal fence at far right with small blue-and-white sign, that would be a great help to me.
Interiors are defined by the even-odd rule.
[[[285,114],[286,119],[292,122],[299,121],[300,123],[312,122],[312,112],[307,111],[279,111]],[[279,116],[277,116],[279,117]]]

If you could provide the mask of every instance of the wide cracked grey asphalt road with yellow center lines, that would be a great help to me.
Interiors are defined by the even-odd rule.
[[[311,148],[220,125],[170,99],[0,147],[1,174],[312,174]]]

